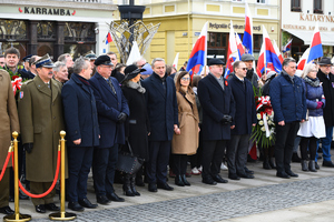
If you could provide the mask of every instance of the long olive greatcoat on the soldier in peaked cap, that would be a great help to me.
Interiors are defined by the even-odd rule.
[[[65,130],[61,85],[53,79],[50,80],[50,85],[51,89],[36,75],[33,80],[22,84],[19,97],[22,143],[33,143],[32,152],[27,152],[26,155],[27,179],[33,182],[53,180],[59,132]]]

